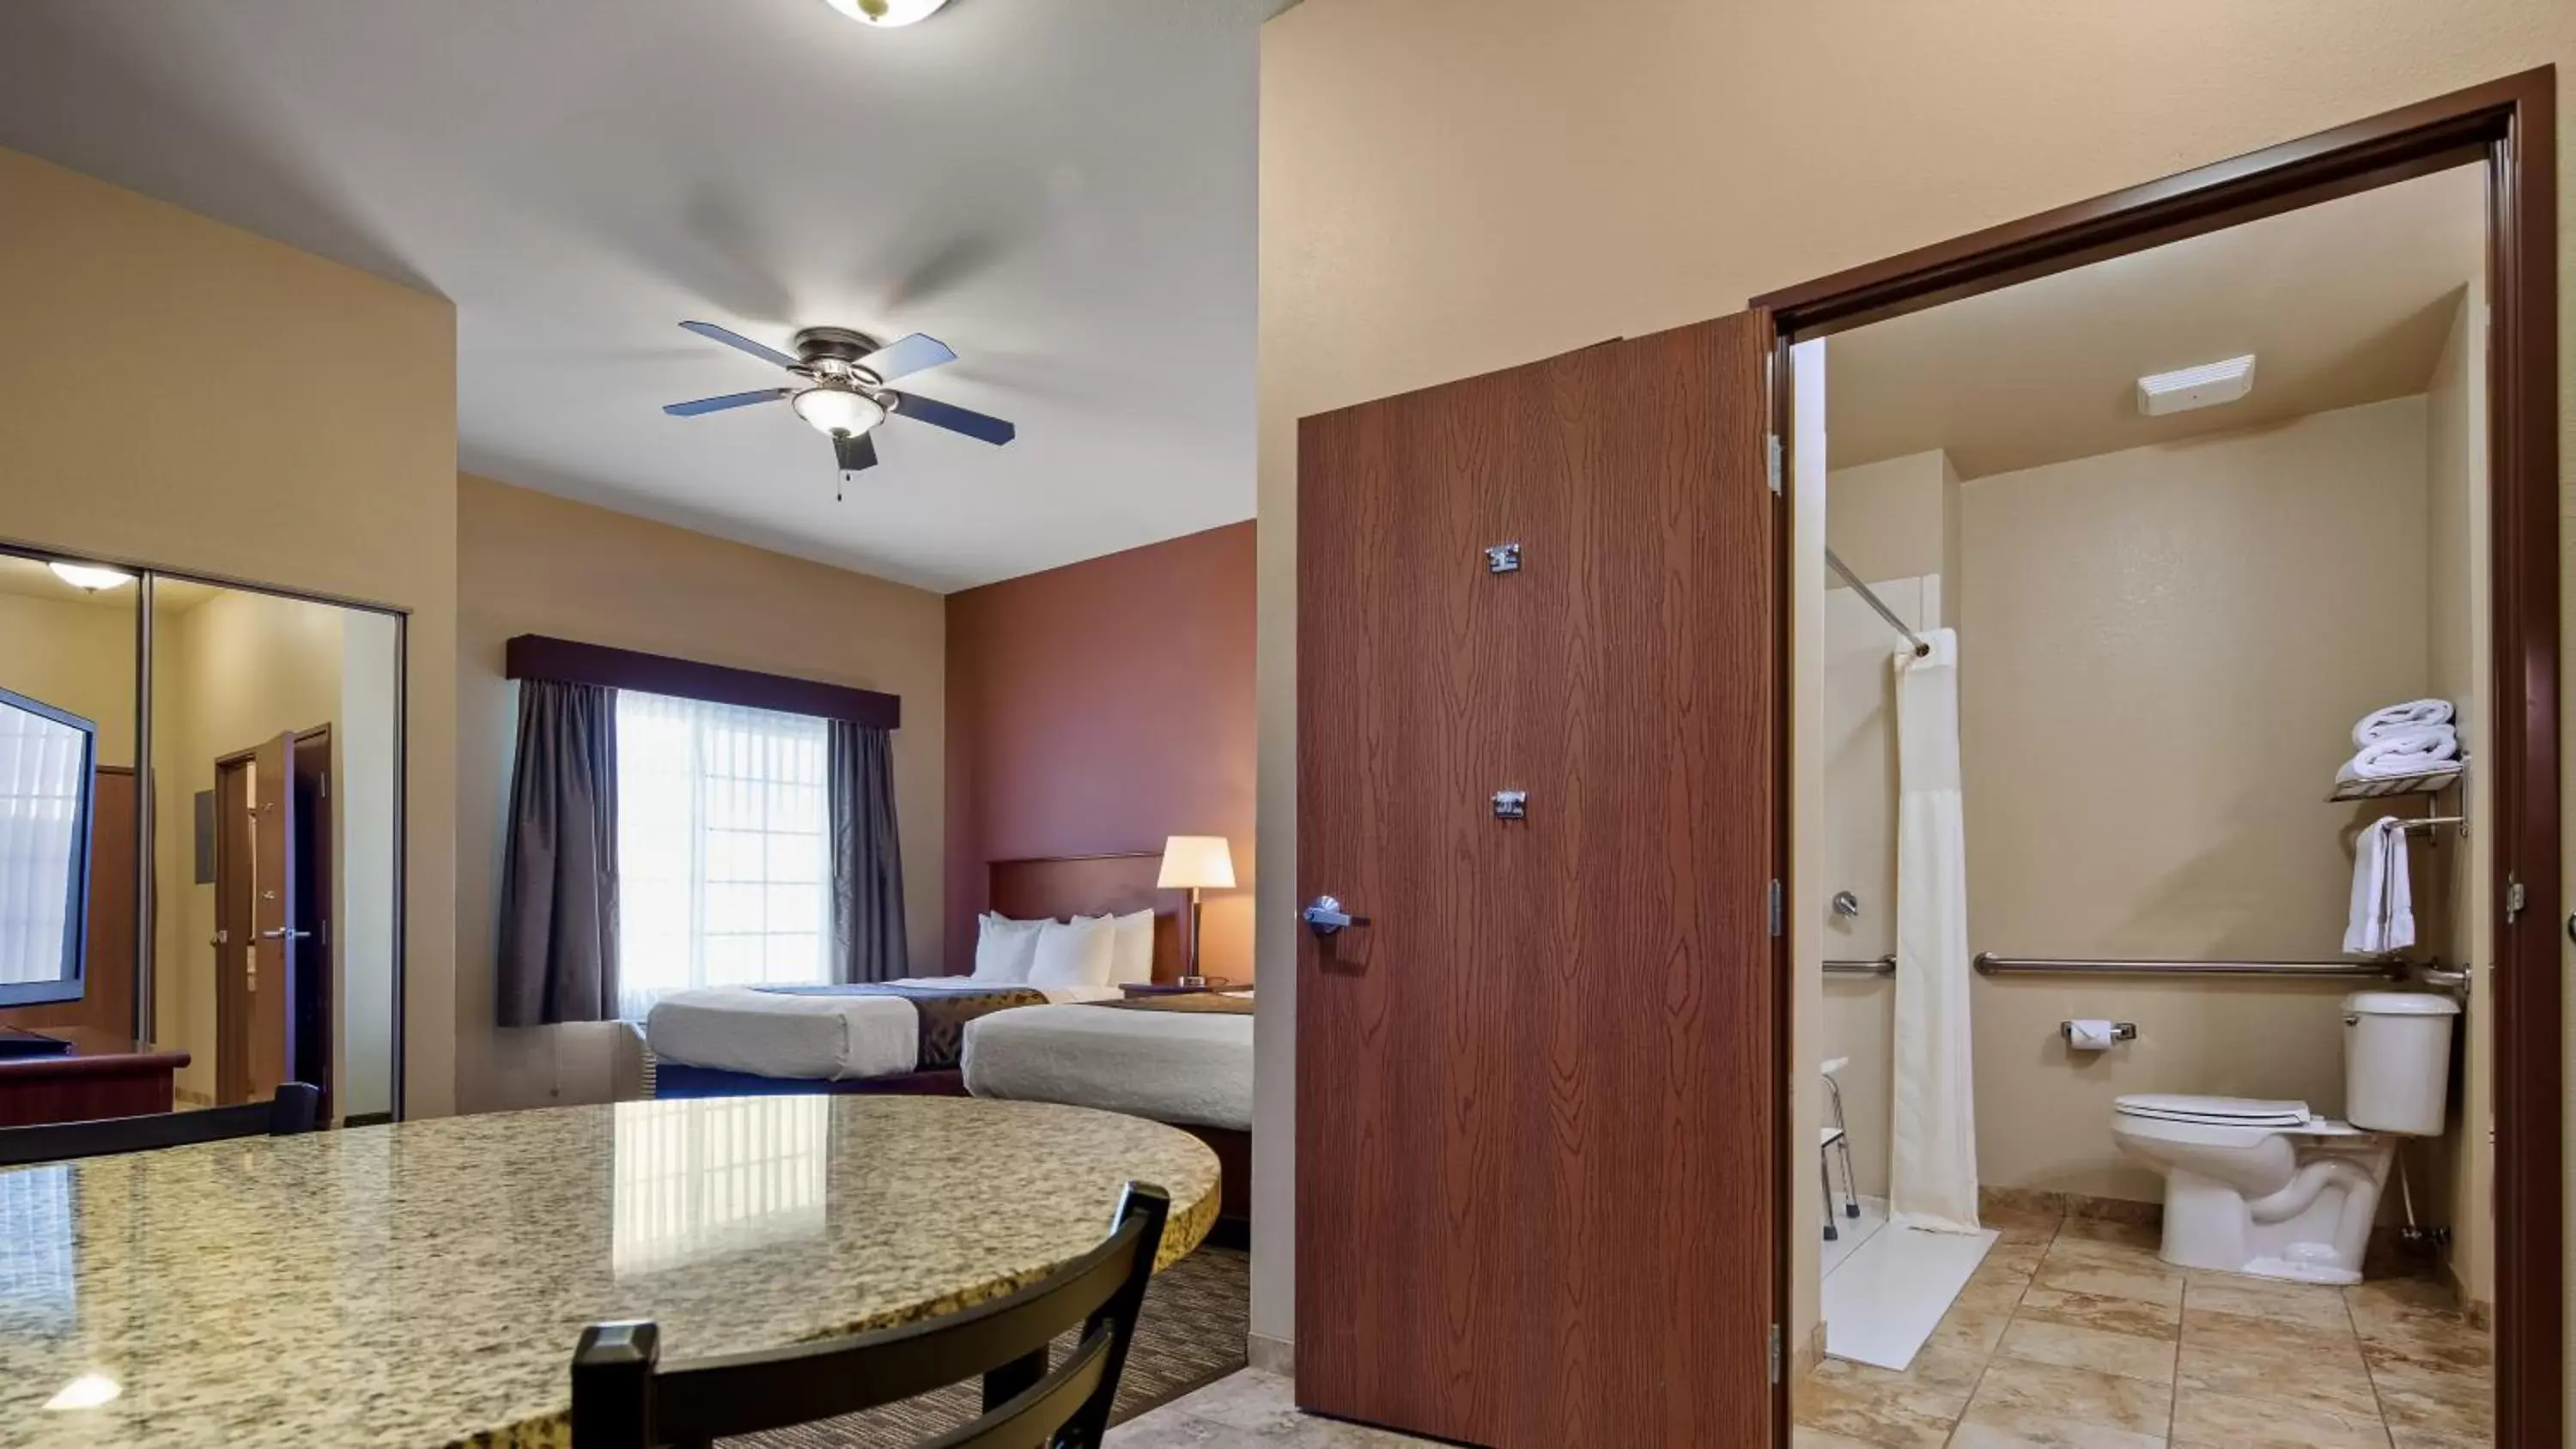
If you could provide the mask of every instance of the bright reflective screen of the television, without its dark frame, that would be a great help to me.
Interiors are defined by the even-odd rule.
[[[0,983],[62,981],[85,762],[77,728],[0,708]]]

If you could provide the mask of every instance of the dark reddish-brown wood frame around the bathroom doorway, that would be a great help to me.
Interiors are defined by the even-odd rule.
[[[2496,1444],[2563,1436],[2561,839],[2558,839],[2558,170],[2555,67],[2406,106],[1973,232],[1770,296],[1772,430],[1790,430],[1788,347],[1942,301],[2143,252],[2458,165],[2488,178],[2488,512],[2496,723]],[[2045,124],[2045,118],[2032,118]],[[1780,510],[1783,517],[1788,510]],[[1785,605],[1785,522],[1775,587]],[[1780,610],[1788,613],[1785,607]],[[1790,656],[1780,651],[1780,700]],[[1783,721],[1785,723],[1785,721]],[[1788,739],[1788,731],[1780,731]],[[1777,762],[1785,790],[1785,754]],[[1788,831],[1780,831],[1788,842]],[[1790,862],[1780,860],[1783,880]],[[2576,927],[2571,927],[2576,929]],[[1777,999],[1790,1001],[1783,939]],[[1783,1058],[1788,1060],[1788,1058]],[[1785,1091],[1785,1081],[1783,1081]],[[1785,1130],[1777,1140],[1795,1150]],[[1793,1163],[1783,1153],[1783,1202]],[[1793,1223],[1790,1212],[1780,1223]],[[1788,1243],[1780,1243],[1788,1284]],[[1788,1302],[1780,1302],[1783,1323]]]

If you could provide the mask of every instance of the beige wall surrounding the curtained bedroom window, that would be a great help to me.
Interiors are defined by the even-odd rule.
[[[940,960],[945,600],[489,479],[456,481],[459,1107],[605,1102],[631,1060],[623,1024],[500,1029],[492,1014],[502,811],[515,690],[502,646],[551,633],[902,695],[894,795],[917,970]],[[621,1055],[623,1053],[623,1055]]]

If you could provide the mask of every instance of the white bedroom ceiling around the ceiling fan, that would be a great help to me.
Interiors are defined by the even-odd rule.
[[[8,0],[0,144],[453,299],[469,471],[956,589],[1252,517],[1280,8]],[[683,319],[930,332],[1020,438],[832,502],[783,407],[659,412],[781,378]]]

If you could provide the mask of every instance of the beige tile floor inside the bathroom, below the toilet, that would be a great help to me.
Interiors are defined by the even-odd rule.
[[[1906,1372],[1829,1359],[1798,1449],[2468,1449],[2486,1333],[2419,1279],[2174,1269],[2156,1233],[2014,1217]]]

